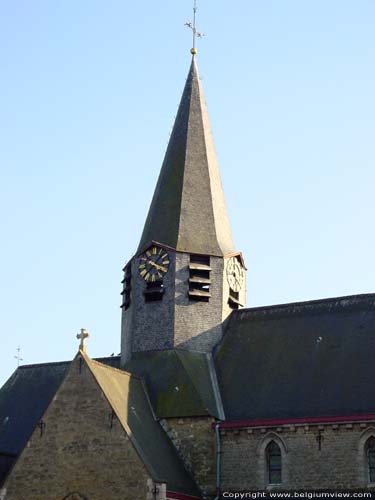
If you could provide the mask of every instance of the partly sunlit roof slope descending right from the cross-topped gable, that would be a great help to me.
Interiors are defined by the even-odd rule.
[[[156,421],[142,380],[81,355],[152,478],[165,482],[169,491],[200,497],[172,442]]]

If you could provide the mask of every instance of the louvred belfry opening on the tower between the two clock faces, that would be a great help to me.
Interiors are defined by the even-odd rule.
[[[190,255],[189,264],[189,299],[208,302],[211,293],[210,257],[206,255]]]

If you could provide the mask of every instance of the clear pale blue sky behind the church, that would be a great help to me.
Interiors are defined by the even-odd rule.
[[[118,353],[192,2],[0,7],[0,383]],[[248,305],[375,291],[375,2],[201,0],[198,65]]]

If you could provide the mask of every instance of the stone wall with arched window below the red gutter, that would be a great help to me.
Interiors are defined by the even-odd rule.
[[[375,436],[375,423],[222,430],[221,489],[365,488],[369,486],[365,445],[371,435]],[[271,440],[282,454],[278,486],[267,484],[265,448]]]

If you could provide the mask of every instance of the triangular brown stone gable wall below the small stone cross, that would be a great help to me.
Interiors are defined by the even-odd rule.
[[[89,368],[76,358],[3,493],[5,500],[63,500],[72,493],[141,500],[149,479]]]

